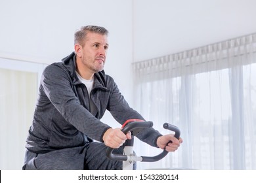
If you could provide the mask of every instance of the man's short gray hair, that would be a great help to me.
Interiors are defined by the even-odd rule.
[[[75,44],[78,43],[83,46],[83,42],[85,41],[88,32],[98,33],[101,35],[108,35],[108,30],[104,27],[96,25],[83,26],[81,27],[81,29],[75,32]]]

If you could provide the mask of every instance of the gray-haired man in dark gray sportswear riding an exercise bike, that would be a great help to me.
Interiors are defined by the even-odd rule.
[[[122,168],[122,162],[106,158],[106,146],[121,154],[121,146],[131,134],[112,129],[100,118],[109,110],[120,124],[131,118],[144,119],[104,73],[107,37],[104,27],[81,27],[75,33],[75,52],[43,72],[23,169]],[[182,142],[153,128],[137,137],[169,152]]]

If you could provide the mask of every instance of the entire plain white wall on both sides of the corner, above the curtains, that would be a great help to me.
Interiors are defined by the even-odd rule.
[[[53,63],[82,25],[110,31],[106,73],[133,105],[131,62],[256,31],[254,0],[1,0],[0,56]]]

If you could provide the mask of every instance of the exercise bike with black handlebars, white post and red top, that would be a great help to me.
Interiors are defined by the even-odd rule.
[[[163,152],[161,152],[157,156],[150,156],[150,157],[137,156],[133,152],[134,137],[138,135],[140,131],[142,131],[143,129],[146,129],[152,126],[153,126],[153,122],[150,122],[150,121],[145,122],[143,120],[137,120],[137,119],[127,120],[121,127],[121,131],[123,131],[123,133],[125,134],[131,131],[131,140],[127,140],[125,142],[125,146],[123,148],[123,154],[113,154],[114,148],[108,147],[106,149],[106,156],[112,160],[123,161],[123,170],[132,170],[133,163],[135,163],[136,161],[154,162],[154,161],[159,161],[160,159],[163,159],[168,154],[166,150],[163,150]],[[181,131],[177,126],[165,123],[163,124],[163,128],[174,131],[175,132],[174,137],[179,139],[181,135]]]

